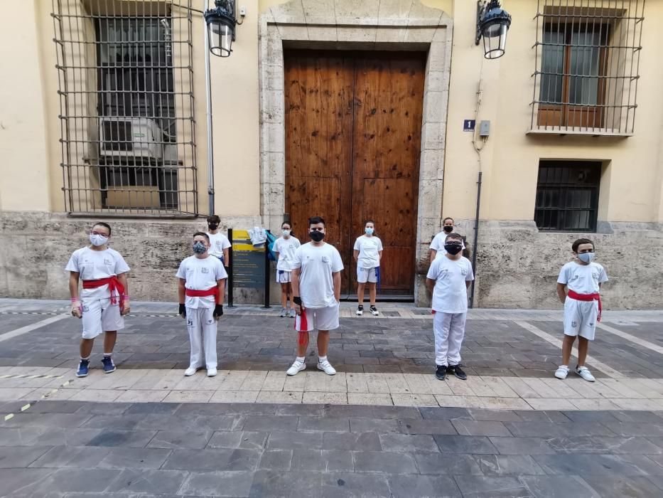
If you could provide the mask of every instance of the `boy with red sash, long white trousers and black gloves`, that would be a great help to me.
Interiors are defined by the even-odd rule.
[[[206,233],[193,234],[193,256],[180,263],[179,314],[186,319],[191,355],[185,376],[203,368],[203,351],[207,376],[217,374],[217,320],[223,314],[225,279],[228,277],[220,260],[208,253],[210,239]]]

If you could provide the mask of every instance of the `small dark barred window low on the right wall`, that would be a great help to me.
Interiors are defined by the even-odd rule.
[[[600,176],[600,161],[539,161],[537,228],[595,232]]]

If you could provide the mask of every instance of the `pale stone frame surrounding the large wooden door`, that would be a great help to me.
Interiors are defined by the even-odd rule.
[[[393,4],[392,4],[393,5]],[[428,245],[441,223],[452,21],[414,0],[407,12],[379,0],[293,0],[259,17],[260,211],[278,229],[285,208],[284,46],[427,51],[416,231],[416,303],[426,302]]]

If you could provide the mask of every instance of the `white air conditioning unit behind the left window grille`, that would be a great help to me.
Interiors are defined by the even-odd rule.
[[[104,157],[163,157],[163,132],[146,117],[100,117],[99,144]]]

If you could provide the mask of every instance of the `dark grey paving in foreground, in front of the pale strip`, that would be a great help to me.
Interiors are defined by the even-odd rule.
[[[39,401],[0,423],[0,496],[654,497],[662,430],[663,411]]]

